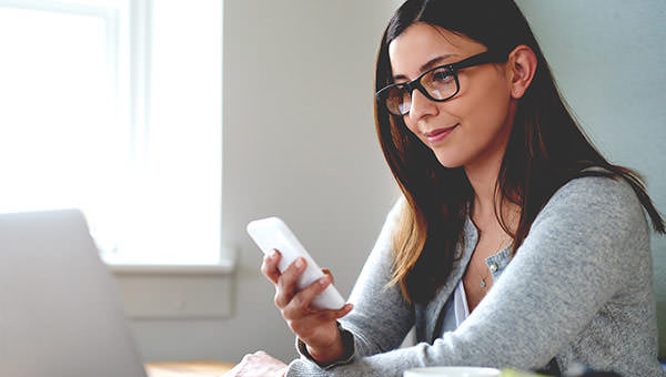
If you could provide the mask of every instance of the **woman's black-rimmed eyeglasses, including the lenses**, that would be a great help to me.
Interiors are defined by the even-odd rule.
[[[485,51],[460,62],[435,67],[410,82],[391,84],[375,93],[380,105],[394,115],[405,115],[412,108],[412,92],[418,89],[431,101],[444,102],[461,90],[457,72],[474,65],[505,62],[506,54]]]

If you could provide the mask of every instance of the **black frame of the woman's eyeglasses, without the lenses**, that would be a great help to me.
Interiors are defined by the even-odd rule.
[[[414,79],[410,82],[398,82],[395,84],[384,86],[383,89],[381,89],[379,92],[375,93],[375,98],[376,98],[377,103],[380,105],[385,106],[386,110],[389,110],[389,112],[391,114],[397,115],[397,116],[403,116],[403,115],[408,114],[410,111],[405,112],[404,114],[396,114],[396,113],[392,112],[391,109],[389,109],[389,105],[386,104],[385,96],[393,88],[401,88],[401,86],[406,88],[407,92],[410,93],[410,96],[412,95],[411,93],[413,93],[414,90],[417,89],[423,95],[425,95],[431,101],[435,101],[435,102],[448,101],[452,98],[456,96],[456,94],[461,91],[461,83],[460,83],[458,77],[457,77],[457,72],[460,70],[470,68],[470,67],[474,67],[474,65],[487,64],[487,63],[502,63],[502,62],[505,62],[506,59],[507,59],[507,54],[505,54],[505,53],[498,53],[498,52],[494,52],[494,51],[485,51],[485,52],[472,55],[470,58],[463,59],[458,62],[437,65],[433,69],[430,69],[430,70],[421,73],[416,79]],[[453,75],[453,79],[455,80],[455,92],[453,94],[451,94],[450,96],[440,100],[440,99],[433,98],[427,92],[427,90],[423,86],[423,84],[421,84],[421,79],[423,79],[423,77],[431,73],[432,71],[441,70],[443,68],[447,69],[451,72],[451,74]]]

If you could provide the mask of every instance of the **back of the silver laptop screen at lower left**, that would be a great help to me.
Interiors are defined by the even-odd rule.
[[[77,210],[0,214],[0,375],[145,377]]]

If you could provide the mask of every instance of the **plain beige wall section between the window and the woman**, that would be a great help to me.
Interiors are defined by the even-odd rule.
[[[239,251],[232,317],[134,320],[147,360],[295,356],[245,233],[258,217],[284,218],[349,295],[397,197],[373,118],[374,58],[393,8],[224,1],[223,243]]]

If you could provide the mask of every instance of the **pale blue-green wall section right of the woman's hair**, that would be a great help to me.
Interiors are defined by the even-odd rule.
[[[649,195],[666,214],[666,2],[517,3],[587,134],[613,163],[647,179]],[[653,236],[652,247],[666,357],[666,238]]]

